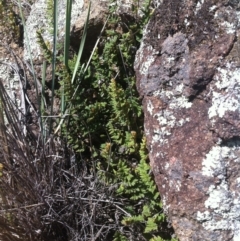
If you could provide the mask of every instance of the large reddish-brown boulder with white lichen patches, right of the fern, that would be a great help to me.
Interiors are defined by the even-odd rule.
[[[238,241],[239,1],[155,2],[135,70],[165,212],[181,241]]]

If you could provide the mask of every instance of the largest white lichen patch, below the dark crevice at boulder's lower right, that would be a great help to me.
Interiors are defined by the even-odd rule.
[[[202,163],[202,174],[219,180],[208,188],[205,212],[197,212],[196,218],[206,230],[232,230],[234,241],[240,240],[240,196],[231,191],[227,179],[230,160],[236,157],[239,147],[214,146]],[[235,179],[238,183],[239,177]],[[232,182],[232,181],[231,181]]]

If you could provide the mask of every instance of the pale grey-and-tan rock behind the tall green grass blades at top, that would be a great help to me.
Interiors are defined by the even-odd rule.
[[[88,5],[90,0],[75,0],[72,4],[71,14],[71,45],[78,51],[78,47],[81,41],[84,24],[87,18]],[[131,6],[136,4],[134,0],[118,0],[116,13],[119,15],[131,15]],[[139,2],[139,14],[140,8],[144,4],[144,0]],[[91,12],[89,18],[89,27],[85,48],[88,50],[88,54],[92,51],[102,27],[107,19],[109,0],[95,0],[92,1]],[[51,12],[52,10],[50,10]],[[65,16],[66,16],[66,1],[60,0],[58,2],[58,43],[63,42],[65,34]],[[134,16],[132,16],[134,17]],[[26,31],[24,33],[24,58],[29,60],[29,51],[27,43],[30,45],[31,57],[35,62],[42,63],[42,52],[37,43],[36,32],[42,31],[42,36],[46,42],[52,46],[52,26],[51,26],[51,14],[49,14],[49,4],[47,0],[37,0],[31,9],[31,12],[26,21]]]

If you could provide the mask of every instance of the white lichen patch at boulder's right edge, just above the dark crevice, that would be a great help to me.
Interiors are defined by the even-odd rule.
[[[222,118],[226,111],[240,110],[240,68],[231,69],[227,65],[225,69],[218,68],[215,75],[214,91],[212,86],[212,106],[208,110],[209,118],[218,116]],[[224,91],[224,92],[223,92]]]

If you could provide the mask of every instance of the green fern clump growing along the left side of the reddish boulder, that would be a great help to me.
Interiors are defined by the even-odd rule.
[[[161,234],[165,215],[150,171],[141,100],[133,70],[135,47],[139,46],[141,29],[150,16],[150,1],[146,1],[142,18],[124,23],[115,15],[116,0],[111,2],[108,26],[87,75],[82,78],[79,71],[71,84],[77,58],[69,61],[67,69],[58,57],[59,83],[71,103],[62,134],[78,160],[88,159],[90,168],[97,167],[102,183],[114,186],[115,198],[124,200],[120,228],[113,240],[128,240],[129,235],[121,231],[125,229],[139,233],[146,240],[161,240],[157,235]],[[133,10],[138,11],[137,7]],[[121,31],[117,26],[122,26]],[[48,58],[51,53],[40,33],[39,40]],[[75,83],[80,83],[77,90]],[[76,98],[71,98],[74,91]]]

